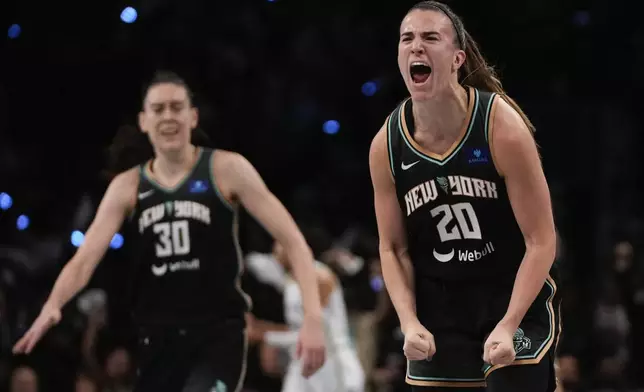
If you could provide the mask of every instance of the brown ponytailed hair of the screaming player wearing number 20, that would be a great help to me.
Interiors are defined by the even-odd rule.
[[[528,116],[523,112],[521,107],[510,98],[503,89],[501,79],[496,74],[494,67],[490,66],[481,51],[478,44],[470,33],[465,30],[461,18],[452,11],[447,5],[437,1],[421,1],[417,3],[407,12],[408,14],[414,10],[428,10],[438,11],[445,14],[451,21],[454,31],[456,32],[456,39],[454,44],[461,50],[465,51],[465,63],[459,69],[459,83],[469,85],[474,88],[497,93],[501,96],[514,110],[519,113],[523,121],[526,123],[530,131],[534,132],[535,127]]]

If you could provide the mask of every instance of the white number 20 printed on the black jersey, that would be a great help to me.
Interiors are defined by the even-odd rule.
[[[442,216],[436,225],[442,242],[481,239],[481,226],[470,203],[443,204],[435,207],[430,212],[432,217]],[[456,217],[456,224],[450,230],[447,230],[447,226],[454,220],[454,217]]]

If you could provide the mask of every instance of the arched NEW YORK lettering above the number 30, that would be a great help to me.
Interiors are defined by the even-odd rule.
[[[210,224],[210,208],[191,200],[176,200],[146,208],[139,218],[139,233],[164,218],[188,218]]]

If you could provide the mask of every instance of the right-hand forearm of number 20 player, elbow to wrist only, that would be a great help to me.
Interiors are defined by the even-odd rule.
[[[521,324],[523,317],[539,295],[555,259],[556,241],[529,246],[514,280],[510,304],[502,324],[512,331]]]

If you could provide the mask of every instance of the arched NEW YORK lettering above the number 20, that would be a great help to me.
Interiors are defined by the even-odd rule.
[[[438,182],[438,187],[436,183]],[[405,194],[407,216],[420,207],[438,198],[437,189],[453,196],[498,199],[496,183],[466,176],[438,177],[416,185]]]

